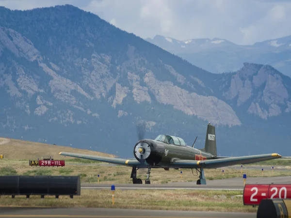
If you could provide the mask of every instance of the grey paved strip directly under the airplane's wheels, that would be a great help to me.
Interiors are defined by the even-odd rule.
[[[250,177],[246,179],[246,184],[291,184],[291,176],[280,177]],[[114,185],[115,188],[120,189],[222,189],[222,190],[242,190],[243,180],[242,178],[229,178],[220,180],[207,180],[207,185],[196,185],[196,182],[175,182],[168,184],[96,184],[96,183],[84,183],[81,184],[83,189],[103,189],[111,188]]]

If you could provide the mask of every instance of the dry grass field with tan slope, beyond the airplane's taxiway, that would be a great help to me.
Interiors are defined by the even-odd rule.
[[[59,152],[72,152],[81,154],[90,154],[97,156],[113,156],[105,153],[95,151],[88,151],[66,146],[49,145],[44,143],[13,140],[0,138],[0,154],[4,155],[0,159],[0,175],[18,174],[18,175],[80,175],[83,183],[97,182],[97,175],[100,175],[99,182],[104,184],[127,184],[132,183],[130,177],[131,168],[126,166],[112,166],[98,161],[86,160],[81,158],[60,156]],[[30,167],[29,159],[37,159],[41,157],[53,157],[54,159],[65,159],[66,166],[63,168],[57,167]],[[288,165],[289,159],[278,159],[273,161],[263,162],[265,165],[274,165],[274,173],[272,171],[264,171],[263,176],[288,176],[291,171],[276,171],[276,162],[282,165]],[[287,164],[282,163],[282,161]],[[258,163],[259,164],[259,163]],[[248,165],[243,167],[243,173],[247,177],[262,176],[260,170],[249,170]],[[270,167],[269,166],[269,167]],[[286,166],[288,167],[288,166]],[[224,174],[222,173],[224,170]],[[163,169],[153,169],[151,171],[152,184],[165,184],[169,182],[190,182],[196,181],[198,175],[189,169],[182,170],[182,178],[180,178],[180,171],[170,169],[165,171]],[[137,171],[137,176],[143,180],[146,179],[146,169]],[[206,169],[205,176],[207,180],[215,180],[222,178],[242,177],[240,169]]]

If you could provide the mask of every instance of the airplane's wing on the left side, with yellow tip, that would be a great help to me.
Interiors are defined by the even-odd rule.
[[[97,161],[102,161],[102,162],[106,162],[106,163],[124,165],[124,166],[129,166],[129,167],[146,166],[146,163],[141,163],[137,159],[122,159],[122,158],[115,158],[115,157],[83,155],[83,154],[68,153],[68,152],[60,152],[59,155],[73,156],[73,157],[89,159],[89,160],[97,160]]]

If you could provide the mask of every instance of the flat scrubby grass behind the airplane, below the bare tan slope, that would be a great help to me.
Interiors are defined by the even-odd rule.
[[[0,160],[0,175],[80,175],[82,183],[97,183],[99,174],[99,183],[103,184],[130,184],[131,168],[126,166],[111,166],[111,165],[69,165],[67,160],[65,167],[30,167],[29,160],[16,160],[16,159],[1,159]],[[70,163],[74,162],[74,159],[70,159]],[[77,161],[78,163],[78,161]],[[206,169],[205,177],[207,180],[217,180],[226,178],[242,178],[241,169]],[[165,171],[163,169],[152,169],[150,174],[151,184],[167,184],[172,182],[196,182],[198,175],[194,171],[194,175],[191,170],[181,169],[182,178],[180,178],[180,171],[170,169]],[[137,177],[142,180],[146,180],[146,169],[140,169],[137,171]],[[243,167],[243,173],[247,174],[247,177],[262,177],[260,170],[249,170],[248,166]],[[264,171],[263,177],[273,176],[291,176],[291,171],[278,171],[274,168],[274,174],[272,171]]]

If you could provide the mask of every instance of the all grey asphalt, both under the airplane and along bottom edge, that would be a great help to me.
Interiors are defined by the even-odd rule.
[[[291,176],[247,178],[247,184],[290,184]],[[111,188],[112,184],[81,184],[81,188]],[[195,182],[169,184],[114,184],[118,189],[242,189],[242,178],[208,180],[207,185]],[[199,211],[137,210],[113,208],[41,208],[0,207],[0,218],[256,218],[256,213],[224,213]]]

